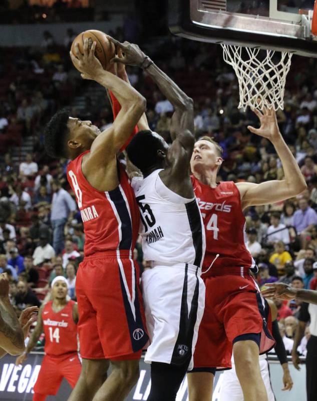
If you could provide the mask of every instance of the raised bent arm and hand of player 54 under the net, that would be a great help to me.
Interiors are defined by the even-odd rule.
[[[259,117],[261,126],[259,128],[248,126],[248,129],[271,141],[282,163],[285,178],[261,184],[238,183],[242,209],[279,202],[296,196],[307,188],[297,162],[279,132],[275,111],[269,108],[264,108],[262,112],[255,109],[253,111]]]

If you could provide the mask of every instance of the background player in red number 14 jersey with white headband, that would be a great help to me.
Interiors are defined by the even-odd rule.
[[[77,354],[78,309],[76,302],[67,301],[67,294],[67,280],[57,276],[52,282],[53,300],[41,306],[26,352],[16,361],[19,365],[27,359],[27,354],[44,332],[45,356],[34,385],[33,401],[45,401],[48,395],[56,395],[63,377],[74,388],[81,372],[82,366]]]

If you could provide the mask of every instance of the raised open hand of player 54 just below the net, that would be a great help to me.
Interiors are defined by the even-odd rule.
[[[276,114],[273,108],[263,107],[262,112],[252,108],[251,109],[260,120],[260,127],[254,128],[248,125],[248,130],[256,133],[260,137],[267,138],[271,142],[280,137],[280,132],[277,125]]]

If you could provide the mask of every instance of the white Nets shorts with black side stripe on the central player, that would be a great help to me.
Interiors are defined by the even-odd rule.
[[[200,269],[199,269],[200,271]],[[196,266],[156,265],[142,275],[143,300],[150,346],[145,362],[189,364],[205,305],[205,285]]]

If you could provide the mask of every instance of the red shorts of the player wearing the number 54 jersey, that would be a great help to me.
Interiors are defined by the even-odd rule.
[[[260,353],[274,346],[267,328],[264,299],[251,276],[212,276],[204,282],[205,310],[198,331],[194,369],[230,368],[232,343],[249,339],[244,335],[261,333]]]

